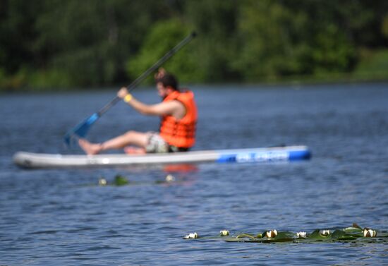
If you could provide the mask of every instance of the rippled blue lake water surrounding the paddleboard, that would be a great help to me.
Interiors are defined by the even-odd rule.
[[[0,95],[0,265],[387,265],[387,243],[227,243],[216,236],[388,229],[388,84],[192,87],[194,150],[308,145],[310,161],[116,169],[18,169],[19,150],[78,153],[63,134],[115,90]],[[135,97],[158,102],[155,90]],[[102,141],[159,120],[119,103]],[[117,174],[128,186],[98,186]],[[167,174],[176,181],[164,183]]]

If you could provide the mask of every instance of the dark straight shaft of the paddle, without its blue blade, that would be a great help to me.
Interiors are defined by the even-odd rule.
[[[183,39],[181,42],[179,42],[176,47],[174,47],[173,49],[171,49],[169,52],[167,52],[166,54],[164,54],[164,56],[159,59],[153,66],[151,66],[150,68],[147,69],[147,71],[145,71],[143,74],[141,74],[138,78],[136,78],[135,80],[133,80],[133,82],[127,86],[127,89],[128,89],[128,92],[131,92],[132,90],[135,89],[135,87],[137,87],[143,80],[145,80],[145,78],[147,78],[148,75],[150,75],[150,73],[154,72],[155,70],[157,70],[157,68],[159,68],[160,66],[162,66],[162,64],[164,64],[164,62],[166,62],[167,60],[169,60],[169,58],[171,56],[173,56],[174,54],[176,54],[176,52],[178,52],[183,46],[185,46],[186,44],[188,44],[188,42],[190,42],[191,40],[193,40],[193,38],[196,36],[196,33],[195,32],[191,32],[190,35],[188,35],[185,39]],[[105,104],[104,107],[102,107],[102,109],[100,109],[98,112],[97,112],[97,115],[100,117],[102,116],[106,111],[108,111],[111,107],[113,107],[117,102],[119,102],[121,100],[121,98],[119,96],[116,96],[114,97],[114,99],[111,99],[110,102],[108,102],[107,104]]]

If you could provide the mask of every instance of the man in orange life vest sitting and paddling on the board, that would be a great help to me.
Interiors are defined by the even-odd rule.
[[[144,104],[122,87],[117,96],[140,114],[160,116],[159,133],[128,131],[104,143],[78,141],[88,155],[104,150],[124,149],[126,153],[186,152],[195,143],[197,107],[190,90],[179,90],[174,75],[163,68],[155,74],[157,92],[162,97],[158,104]],[[133,147],[135,146],[135,147]]]

